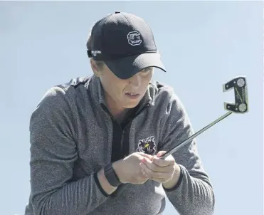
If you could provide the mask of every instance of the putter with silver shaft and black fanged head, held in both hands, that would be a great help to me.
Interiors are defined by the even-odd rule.
[[[222,115],[221,117],[218,117],[218,119],[211,122],[206,127],[202,128],[198,132],[196,132],[194,135],[191,135],[183,142],[180,142],[179,145],[174,147],[173,149],[167,151],[160,157],[161,159],[165,159],[170,154],[174,154],[177,150],[179,150],[181,147],[184,147],[187,143],[191,142],[191,140],[194,140],[195,137],[198,135],[201,135],[202,132],[208,130],[208,128],[212,127],[213,125],[216,125],[216,123],[220,122],[221,120],[225,119],[229,115],[234,113],[240,113],[243,114],[245,112],[248,112],[248,85],[246,82],[245,76],[238,76],[236,78],[233,78],[232,80],[229,80],[227,83],[223,84],[223,92],[226,92],[228,90],[234,90],[235,94],[235,103],[224,103],[224,109],[228,110],[226,114]],[[125,188],[129,184],[122,184],[120,187],[117,188],[116,192],[113,193],[113,196],[120,195]]]

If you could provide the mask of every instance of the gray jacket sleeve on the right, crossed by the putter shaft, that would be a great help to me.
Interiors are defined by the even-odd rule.
[[[194,134],[179,98],[172,95],[164,117],[163,142],[159,150],[168,151]],[[181,167],[178,184],[165,189],[169,201],[181,215],[211,215],[214,211],[213,187],[199,157],[196,140],[172,154]]]

